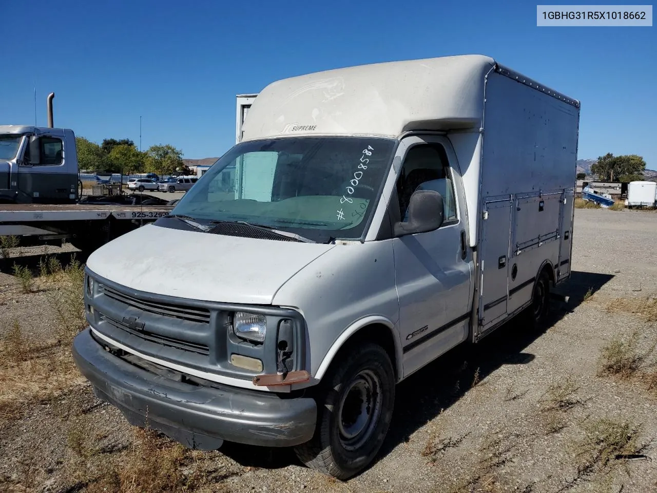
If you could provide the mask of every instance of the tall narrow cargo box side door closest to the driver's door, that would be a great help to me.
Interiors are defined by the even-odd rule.
[[[512,197],[488,197],[482,218],[479,333],[507,316]]]

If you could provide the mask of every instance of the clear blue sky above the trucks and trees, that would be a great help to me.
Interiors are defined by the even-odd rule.
[[[581,101],[579,158],[641,154],[657,169],[657,34],[538,28],[536,4],[484,1],[3,2],[0,123],[100,142],[170,143],[187,158],[235,141],[235,95],[354,64],[489,55]],[[28,35],[29,34],[29,35]]]

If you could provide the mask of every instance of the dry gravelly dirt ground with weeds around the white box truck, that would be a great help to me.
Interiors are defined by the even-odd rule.
[[[132,429],[85,381],[48,380],[70,372],[53,304],[66,291],[48,275],[25,294],[5,262],[0,491],[657,492],[657,214],[578,209],[573,235],[560,288],[570,302],[541,331],[511,322],[401,383],[376,463],[347,482],[290,450],[185,450]],[[17,261],[35,267],[28,258]],[[16,322],[18,340],[39,339],[43,352],[10,352]],[[16,375],[38,368],[44,385],[11,394]]]

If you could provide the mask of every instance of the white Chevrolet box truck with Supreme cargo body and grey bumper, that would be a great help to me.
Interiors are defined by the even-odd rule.
[[[463,55],[280,80],[238,118],[168,217],[91,255],[74,357],[135,425],[294,446],[346,479],[399,381],[544,319],[570,276],[579,103]]]

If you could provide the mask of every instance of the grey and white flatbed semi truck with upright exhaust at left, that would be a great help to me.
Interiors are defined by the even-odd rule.
[[[54,97],[47,98],[47,127],[0,126],[0,237],[19,237],[24,246],[68,241],[86,253],[168,214],[171,207],[147,200],[80,200],[75,133],[54,128]]]

